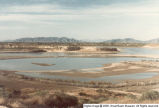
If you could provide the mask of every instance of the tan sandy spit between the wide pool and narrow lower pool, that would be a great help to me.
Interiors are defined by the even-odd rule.
[[[156,64],[156,66],[152,64]],[[152,66],[151,66],[152,65]],[[43,70],[43,71],[18,71],[27,73],[41,73],[46,75],[58,75],[68,77],[98,78],[103,76],[116,76],[136,73],[159,73],[159,62],[156,61],[128,61],[106,64],[104,67],[88,68],[80,70]],[[150,68],[151,67],[151,68]]]

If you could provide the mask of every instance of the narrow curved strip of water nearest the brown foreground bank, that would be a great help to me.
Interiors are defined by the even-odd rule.
[[[75,80],[75,81],[82,81],[82,82],[89,82],[89,81],[107,81],[107,82],[120,82],[121,80],[133,80],[133,79],[144,79],[144,78],[151,78],[153,76],[158,75],[158,73],[151,72],[151,73],[135,73],[135,74],[123,74],[123,75],[113,75],[113,76],[104,76],[104,77],[97,77],[97,78],[85,78],[85,77],[69,77],[69,76],[58,76],[58,75],[47,75],[41,73],[30,73],[30,72],[16,72],[20,75],[25,75],[28,77],[34,78],[45,78],[45,79],[62,79],[62,80]]]

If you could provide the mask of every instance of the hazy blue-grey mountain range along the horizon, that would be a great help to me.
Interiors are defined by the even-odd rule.
[[[105,43],[159,43],[159,38],[148,41],[136,40],[133,38],[111,39],[111,40],[77,40],[67,37],[36,37],[36,38],[20,38],[16,40],[8,40],[5,42],[58,42],[58,43],[77,43],[77,42],[105,42]]]

